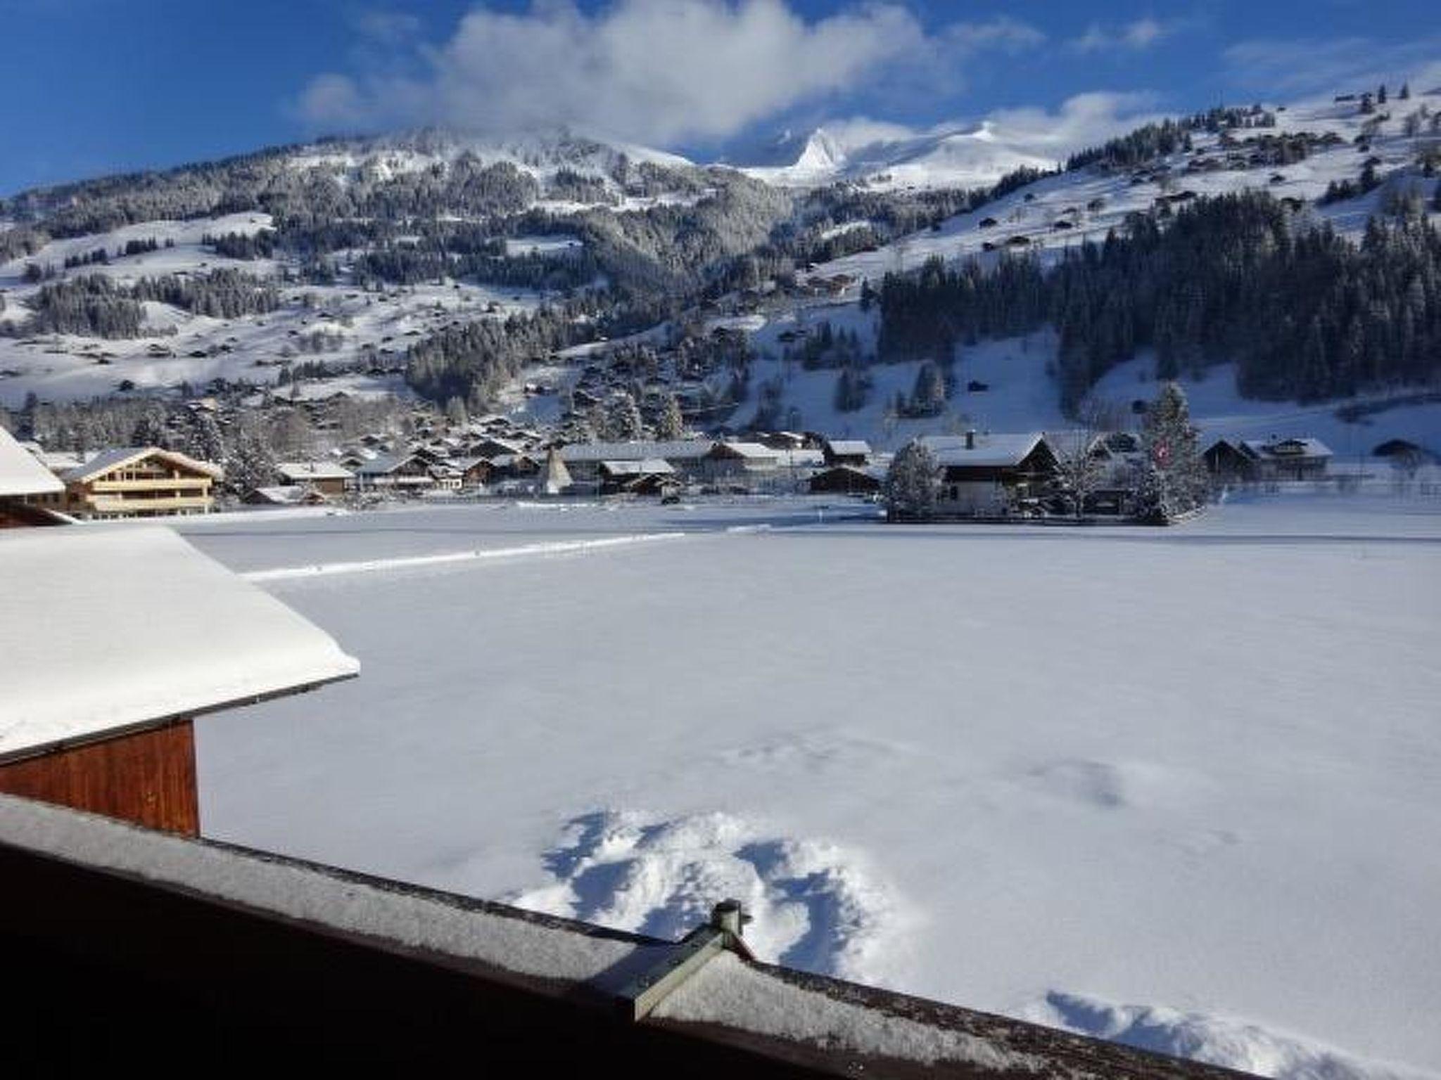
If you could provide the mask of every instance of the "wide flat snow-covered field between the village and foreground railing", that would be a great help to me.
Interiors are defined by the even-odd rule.
[[[186,524],[363,665],[200,723],[206,832],[660,935],[735,894],[797,966],[1441,1076],[1441,501],[837,510]]]

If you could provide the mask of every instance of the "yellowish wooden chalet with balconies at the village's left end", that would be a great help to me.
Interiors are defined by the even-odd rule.
[[[65,505],[76,517],[208,514],[219,465],[159,446],[110,449],[65,472]]]

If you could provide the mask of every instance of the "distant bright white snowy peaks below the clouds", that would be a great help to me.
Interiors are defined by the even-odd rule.
[[[833,124],[800,137],[787,132],[759,157],[742,168],[788,187],[842,180],[876,187],[986,187],[1022,167],[1056,167],[1055,160],[1007,140],[989,121],[922,134],[889,124]]]

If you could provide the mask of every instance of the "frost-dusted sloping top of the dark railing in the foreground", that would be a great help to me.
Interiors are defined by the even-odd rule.
[[[637,962],[648,968],[667,960],[676,945],[10,795],[0,795],[4,848],[69,865],[76,874],[121,878],[195,903],[308,927],[318,936],[340,935],[380,952],[401,950],[438,972],[451,972],[458,960],[481,981],[491,981],[487,971],[506,973],[504,985],[563,1002],[558,1021],[574,1022],[574,1007],[582,998],[602,1008],[614,1004],[611,994],[623,972],[635,971]],[[7,881],[6,893],[22,910],[32,884],[23,873]],[[76,896],[84,904],[88,893]],[[75,927],[63,920],[62,932],[84,940],[86,933],[104,933],[99,926],[82,922]],[[133,929],[159,932],[167,940],[171,933],[169,923],[148,929],[134,923]],[[582,998],[575,996],[578,991],[584,991]],[[938,1066],[970,1077],[1244,1076],[960,1005],[741,962],[729,953],[669,1001],[674,1004],[634,1027],[683,1034],[702,1053],[708,1044],[739,1047],[785,1063],[797,1074],[833,1074],[837,1066],[859,1064],[872,1074],[896,1076],[931,1076]],[[624,1021],[617,1017],[615,1022]],[[474,1034],[467,1030],[464,1038]]]

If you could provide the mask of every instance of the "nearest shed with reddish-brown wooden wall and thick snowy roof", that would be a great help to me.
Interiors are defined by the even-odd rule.
[[[0,792],[199,832],[192,720],[349,678],[323,631],[169,528],[0,534]]]

